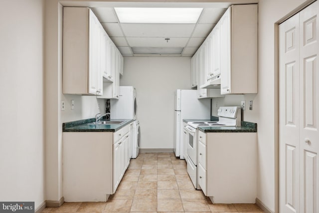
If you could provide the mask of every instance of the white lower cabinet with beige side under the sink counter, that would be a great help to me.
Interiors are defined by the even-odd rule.
[[[63,132],[65,202],[106,202],[130,164],[130,124],[117,132]]]

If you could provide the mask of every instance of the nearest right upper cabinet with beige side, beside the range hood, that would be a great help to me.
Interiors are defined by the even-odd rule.
[[[257,93],[257,21],[257,4],[232,5],[220,19],[221,94]]]

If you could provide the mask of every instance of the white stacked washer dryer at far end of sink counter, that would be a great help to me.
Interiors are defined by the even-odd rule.
[[[137,102],[136,90],[133,86],[120,86],[119,99],[111,99],[111,119],[133,119],[132,158],[139,155],[139,129],[140,123],[136,120]]]

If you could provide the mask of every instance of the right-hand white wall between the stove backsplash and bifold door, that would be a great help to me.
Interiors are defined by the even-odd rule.
[[[240,105],[246,100],[244,120],[258,126],[257,198],[278,212],[278,49],[277,28],[281,20],[300,10],[311,0],[259,0],[258,5],[258,94],[213,99],[220,104]],[[253,100],[253,110],[249,101]]]

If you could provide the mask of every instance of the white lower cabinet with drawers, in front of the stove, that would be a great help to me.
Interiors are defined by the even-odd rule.
[[[198,184],[212,203],[254,204],[257,133],[199,131],[197,172]]]

